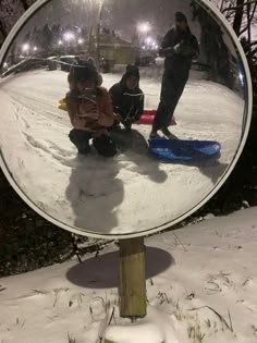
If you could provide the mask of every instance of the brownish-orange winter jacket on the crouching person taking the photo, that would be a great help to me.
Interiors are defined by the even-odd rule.
[[[111,98],[103,87],[96,88],[95,101],[85,99],[77,89],[69,91],[66,107],[74,128],[98,132],[113,125]]]

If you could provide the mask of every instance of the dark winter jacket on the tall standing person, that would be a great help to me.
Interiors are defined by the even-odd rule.
[[[189,29],[181,32],[172,27],[164,36],[160,56],[166,57],[166,70],[178,75],[188,74],[193,58],[198,57],[197,39]]]

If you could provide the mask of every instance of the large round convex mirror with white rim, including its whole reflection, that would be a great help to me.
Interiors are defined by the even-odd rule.
[[[207,0],[38,1],[0,63],[1,167],[37,212],[83,235],[179,222],[247,136],[246,60]]]

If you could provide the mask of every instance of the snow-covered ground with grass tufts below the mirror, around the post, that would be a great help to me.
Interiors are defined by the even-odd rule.
[[[105,332],[117,343],[257,342],[257,208],[155,235],[146,246],[144,320],[119,319],[119,254],[110,245],[83,264],[0,279],[0,342],[99,343]]]

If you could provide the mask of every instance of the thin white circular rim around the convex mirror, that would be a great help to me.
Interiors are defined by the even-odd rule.
[[[40,8],[42,8],[45,4],[47,4],[48,2],[50,2],[51,0],[39,0],[36,3],[34,3],[29,10],[19,20],[19,22],[15,24],[15,26],[13,27],[13,29],[11,30],[10,35],[8,36],[8,38],[5,39],[2,49],[0,51],[0,65],[3,62],[3,59],[13,41],[13,39],[16,37],[16,35],[19,34],[19,32],[21,30],[21,28],[24,26],[24,24],[29,20],[30,16],[33,16],[33,14],[35,14],[36,12],[38,12],[40,10]],[[199,4],[203,4],[206,9],[209,9],[217,19],[219,19],[219,21],[222,23],[223,27],[227,29],[228,34],[230,35],[230,37],[233,39],[233,42],[237,49],[237,51],[240,52],[240,57],[242,59],[242,63],[244,66],[244,71],[245,71],[245,76],[246,76],[246,99],[245,99],[245,117],[246,117],[246,122],[245,122],[245,127],[244,127],[244,133],[240,143],[240,146],[237,147],[237,150],[234,155],[234,158],[232,160],[232,162],[230,163],[229,168],[227,169],[225,173],[222,175],[221,180],[213,186],[213,188],[211,189],[211,192],[201,199],[201,201],[199,201],[197,205],[195,205],[191,210],[188,210],[187,212],[183,213],[182,216],[175,218],[174,220],[168,222],[168,223],[163,223],[157,228],[152,228],[150,230],[147,231],[140,231],[140,232],[134,232],[131,234],[107,234],[107,233],[95,233],[95,232],[90,232],[90,231],[86,231],[84,229],[79,229],[76,226],[72,226],[72,225],[68,225],[57,219],[54,219],[53,217],[49,216],[48,213],[44,212],[39,207],[37,207],[33,199],[30,199],[26,194],[24,194],[23,189],[17,185],[17,183],[14,181],[14,179],[12,177],[12,174],[8,167],[7,163],[4,161],[4,156],[2,156],[1,149],[0,149],[0,167],[3,171],[3,173],[5,174],[8,181],[10,182],[10,184],[12,185],[12,187],[15,189],[15,192],[21,196],[21,198],[30,207],[33,208],[38,215],[40,215],[41,217],[44,217],[45,219],[47,219],[48,221],[52,222],[53,224],[68,230],[70,232],[76,233],[76,234],[81,234],[81,235],[86,235],[86,236],[91,236],[91,237],[98,237],[98,238],[119,238],[119,240],[123,240],[123,238],[130,238],[130,237],[136,237],[136,236],[145,236],[148,234],[152,234],[152,233],[157,233],[159,231],[162,231],[164,229],[171,228],[172,225],[179,223],[180,221],[184,220],[186,217],[191,216],[193,212],[195,212],[197,209],[199,209],[205,203],[207,203],[218,191],[219,188],[223,185],[223,183],[225,182],[225,180],[229,177],[229,175],[231,174],[232,170],[234,169],[246,142],[247,135],[248,135],[248,131],[249,131],[249,125],[250,125],[250,118],[252,118],[252,109],[253,109],[253,89],[252,89],[252,81],[250,81],[250,74],[249,74],[249,69],[248,69],[248,64],[243,51],[243,48],[235,35],[235,33],[233,32],[232,27],[230,26],[230,24],[227,22],[227,20],[223,17],[223,15],[219,12],[219,10],[211,4],[208,0],[198,0],[197,1]]]

